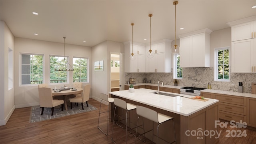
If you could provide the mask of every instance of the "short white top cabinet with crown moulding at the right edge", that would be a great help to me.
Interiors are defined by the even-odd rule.
[[[227,23],[231,27],[231,41],[256,38],[256,16]]]

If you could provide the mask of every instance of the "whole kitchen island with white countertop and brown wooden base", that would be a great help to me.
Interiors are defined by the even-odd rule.
[[[120,98],[132,104],[145,106],[175,118],[174,123],[178,144],[214,144],[218,141],[218,138],[216,138],[218,137],[218,126],[215,126],[215,120],[218,120],[219,100],[207,98],[207,101],[200,101],[194,100],[191,98],[192,96],[184,94],[176,94],[177,96],[172,97],[153,94],[153,92],[156,92],[156,90],[140,88],[136,89],[135,92],[122,90],[110,92],[110,94],[111,97]],[[122,110],[119,110],[119,112],[122,112]],[[132,111],[131,122],[136,123],[137,117],[136,111]],[[144,120],[144,124],[148,127],[152,126],[152,122],[150,123],[150,121],[147,120]],[[160,137],[164,140],[172,141],[174,139],[172,131],[171,123],[163,124],[160,127]],[[212,132],[212,135],[208,132]],[[215,132],[215,134],[213,132]],[[156,134],[156,132],[154,132],[154,134]],[[148,134],[146,137],[151,140],[152,134]],[[154,138],[154,140],[156,140],[156,138]]]

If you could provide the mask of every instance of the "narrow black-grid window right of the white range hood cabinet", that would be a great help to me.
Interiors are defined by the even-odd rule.
[[[229,81],[229,47],[215,49],[215,72],[216,81]]]

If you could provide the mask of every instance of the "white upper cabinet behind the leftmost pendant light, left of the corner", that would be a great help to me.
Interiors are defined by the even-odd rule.
[[[132,52],[134,53],[133,58]],[[124,72],[145,72],[145,46],[144,44],[124,43]]]

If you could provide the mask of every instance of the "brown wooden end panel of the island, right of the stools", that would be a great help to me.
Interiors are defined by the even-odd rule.
[[[215,120],[218,120],[218,103],[208,106],[190,116],[181,116],[182,144],[214,144],[218,142],[217,133],[214,136],[205,136],[208,132],[218,132]],[[206,132],[204,134],[204,132]]]

